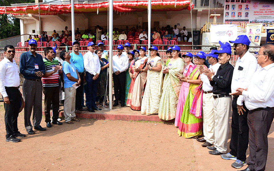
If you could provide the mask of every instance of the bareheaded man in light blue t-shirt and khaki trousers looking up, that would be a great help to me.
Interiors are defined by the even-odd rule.
[[[81,84],[80,75],[72,62],[70,62],[70,54],[63,50],[60,53],[60,58],[64,60],[62,66],[64,76],[65,101],[64,101],[64,116],[65,122],[72,124],[72,121],[80,121],[75,115],[75,99],[76,88]],[[79,87],[78,87],[79,88]]]

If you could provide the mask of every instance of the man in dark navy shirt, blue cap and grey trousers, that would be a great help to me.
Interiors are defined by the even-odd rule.
[[[25,98],[24,119],[25,128],[29,134],[34,134],[31,125],[31,110],[33,109],[33,126],[39,131],[46,131],[40,123],[42,120],[42,82],[45,74],[43,57],[36,53],[37,42],[29,40],[29,51],[20,56],[20,73],[24,76],[23,96]]]

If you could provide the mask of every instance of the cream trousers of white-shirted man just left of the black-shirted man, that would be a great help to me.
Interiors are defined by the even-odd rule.
[[[213,144],[214,143],[214,110],[213,110],[213,93],[203,94],[203,132],[204,139]]]

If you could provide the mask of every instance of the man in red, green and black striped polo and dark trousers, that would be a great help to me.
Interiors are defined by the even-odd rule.
[[[43,76],[43,93],[45,95],[45,122],[47,127],[51,127],[51,106],[52,106],[52,123],[56,125],[62,125],[57,121],[59,118],[59,74],[62,74],[62,65],[54,59],[54,52],[52,47],[46,47],[44,49],[46,72]]]

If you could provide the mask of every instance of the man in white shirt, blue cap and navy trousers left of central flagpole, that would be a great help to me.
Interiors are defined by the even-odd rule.
[[[86,101],[89,112],[94,110],[102,110],[96,106],[96,96],[98,89],[98,76],[100,74],[101,65],[99,57],[94,53],[95,45],[93,42],[88,43],[88,52],[84,54],[84,67],[86,69]]]

